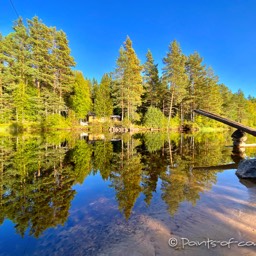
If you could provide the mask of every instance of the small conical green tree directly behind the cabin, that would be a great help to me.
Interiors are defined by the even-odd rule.
[[[110,97],[111,78],[104,74],[95,94],[94,109],[99,117],[109,117],[113,113],[113,103]]]

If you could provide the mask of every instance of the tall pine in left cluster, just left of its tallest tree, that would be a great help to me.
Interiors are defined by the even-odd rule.
[[[4,40],[4,79],[6,85],[8,84],[5,92],[8,95],[9,108],[14,114],[13,118],[23,122],[25,119],[24,109],[28,108],[27,90],[33,72],[31,48],[27,28],[21,18],[15,22],[13,29],[14,32]]]

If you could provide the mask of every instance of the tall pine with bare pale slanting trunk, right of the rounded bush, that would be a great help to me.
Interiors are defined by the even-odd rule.
[[[177,104],[181,107],[182,102],[188,95],[188,76],[186,74],[186,56],[182,54],[177,41],[173,41],[169,46],[169,52],[163,59],[163,78],[167,81],[170,89],[169,125],[173,115],[173,106]]]

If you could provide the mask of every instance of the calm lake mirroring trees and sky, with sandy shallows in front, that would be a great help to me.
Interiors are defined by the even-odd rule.
[[[255,255],[230,135],[0,137],[0,255]]]

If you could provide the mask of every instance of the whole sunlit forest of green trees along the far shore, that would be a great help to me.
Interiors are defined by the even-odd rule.
[[[0,124],[71,128],[94,113],[106,120],[120,115],[123,126],[222,126],[195,115],[201,108],[256,127],[256,98],[219,83],[203,57],[186,56],[176,40],[162,70],[150,50],[141,63],[128,36],[115,70],[101,81],[84,77],[75,65],[64,31],[38,17],[16,20],[13,32],[0,34]]]

